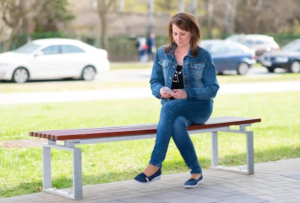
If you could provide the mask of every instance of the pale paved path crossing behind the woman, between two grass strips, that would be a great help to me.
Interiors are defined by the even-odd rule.
[[[300,81],[222,84],[217,95],[285,91],[300,91]],[[13,92],[0,93],[0,104],[29,104],[129,98],[153,98],[153,95],[149,87],[59,92]]]

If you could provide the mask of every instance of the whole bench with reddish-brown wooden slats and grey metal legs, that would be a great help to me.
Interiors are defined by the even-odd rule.
[[[211,168],[242,174],[254,173],[253,157],[253,132],[246,131],[246,126],[260,122],[260,118],[244,117],[211,117],[203,125],[191,125],[188,127],[189,134],[211,133]],[[230,126],[239,126],[239,130],[230,129]],[[48,143],[42,144],[42,177],[43,191],[73,200],[82,199],[82,166],[81,148],[75,145],[115,142],[124,140],[138,140],[155,138],[157,123],[113,126],[102,128],[84,128],[67,130],[50,130],[29,132],[29,136],[48,139]],[[246,134],[246,159],[247,169],[218,166],[217,132],[230,132]],[[56,141],[64,141],[59,145]],[[196,148],[197,146],[195,146]],[[73,191],[65,192],[52,188],[51,184],[51,148],[72,152],[73,163]]]

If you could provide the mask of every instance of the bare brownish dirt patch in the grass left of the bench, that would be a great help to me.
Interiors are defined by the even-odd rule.
[[[0,147],[5,148],[27,148],[27,147],[41,147],[41,143],[47,143],[47,139],[29,139],[29,140],[6,140],[0,142]]]

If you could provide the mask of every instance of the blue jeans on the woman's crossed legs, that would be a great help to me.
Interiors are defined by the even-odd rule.
[[[202,173],[198,158],[187,133],[192,123],[205,123],[212,113],[212,101],[174,99],[162,105],[154,149],[149,164],[161,168],[172,137],[190,174]]]

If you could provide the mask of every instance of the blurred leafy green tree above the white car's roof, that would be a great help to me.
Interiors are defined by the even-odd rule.
[[[74,19],[75,16],[68,11],[68,0],[44,0],[40,11],[35,15],[35,31],[37,32],[56,32],[57,24]]]

